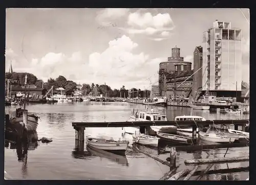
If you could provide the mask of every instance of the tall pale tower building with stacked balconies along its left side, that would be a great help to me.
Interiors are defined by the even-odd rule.
[[[241,29],[216,20],[203,33],[202,90],[240,91],[242,83]]]

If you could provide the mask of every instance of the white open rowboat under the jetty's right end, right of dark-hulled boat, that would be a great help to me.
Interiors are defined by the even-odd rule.
[[[235,138],[219,135],[216,133],[204,133],[203,131],[199,131],[199,137],[203,141],[215,142],[215,143],[231,143],[234,142]]]

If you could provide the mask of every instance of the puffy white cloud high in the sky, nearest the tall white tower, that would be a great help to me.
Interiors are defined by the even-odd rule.
[[[150,12],[130,13],[127,24],[129,28],[126,31],[130,34],[147,34],[154,36],[155,41],[167,39],[170,35],[168,31],[174,29],[174,22],[168,13],[152,15]]]

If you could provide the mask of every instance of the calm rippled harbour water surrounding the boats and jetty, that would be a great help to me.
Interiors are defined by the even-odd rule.
[[[14,116],[15,109],[19,106],[6,107],[6,114]],[[190,108],[182,107],[148,107],[164,113],[168,120],[176,116],[190,115]],[[86,152],[86,155],[77,154],[75,147],[75,130],[72,122],[103,122],[126,121],[132,109],[142,111],[146,105],[127,102],[58,102],[54,104],[30,104],[29,113],[39,116],[37,134],[38,138],[52,138],[51,143],[41,143],[30,147],[27,163],[19,162],[15,148],[5,148],[5,171],[11,179],[79,179],[79,180],[158,180],[169,167],[160,164],[142,153],[134,153],[127,149],[125,156],[106,155],[96,151]],[[217,119],[216,113],[210,111],[193,110],[193,115],[205,119]],[[220,119],[249,119],[249,115],[220,114]],[[122,138],[123,130],[118,128],[86,128],[85,135],[95,137],[108,136],[113,139]],[[131,135],[123,136],[132,144]],[[142,146],[147,151],[162,160],[169,157],[169,153],[159,154],[157,149]],[[89,150],[89,149],[88,149]],[[84,151],[87,151],[86,142]],[[89,150],[90,151],[90,150]],[[177,172],[193,166],[185,166],[184,160],[194,158],[223,157],[226,148],[198,151],[193,153],[178,152]],[[244,156],[249,154],[249,147],[230,148],[226,157]],[[211,170],[247,167],[249,162],[215,164]],[[207,165],[201,165],[198,170],[205,170]],[[249,172],[236,172],[231,174],[209,174],[203,180],[245,180]],[[195,179],[196,176],[191,177]]]

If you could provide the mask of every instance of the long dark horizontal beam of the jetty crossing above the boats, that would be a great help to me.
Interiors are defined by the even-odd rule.
[[[130,126],[209,126],[211,124],[234,124],[245,125],[249,120],[206,120],[206,121],[125,121],[125,122],[73,122],[72,126],[76,129],[79,127],[130,127]]]

